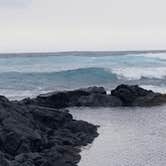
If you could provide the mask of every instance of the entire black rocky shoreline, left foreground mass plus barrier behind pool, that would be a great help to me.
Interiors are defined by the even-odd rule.
[[[53,92],[9,101],[0,96],[1,166],[76,166],[80,147],[98,136],[97,126],[74,120],[67,107],[156,106],[166,95],[137,85]]]

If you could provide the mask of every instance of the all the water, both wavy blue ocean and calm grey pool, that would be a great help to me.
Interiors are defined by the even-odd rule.
[[[166,93],[166,52],[64,52],[0,55],[0,94],[11,100],[41,93],[138,84]],[[70,108],[100,125],[79,166],[166,165],[166,106]]]

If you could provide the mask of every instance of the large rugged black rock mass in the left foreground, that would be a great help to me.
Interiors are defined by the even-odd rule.
[[[97,127],[67,110],[10,102],[0,96],[0,166],[76,166],[80,146]]]

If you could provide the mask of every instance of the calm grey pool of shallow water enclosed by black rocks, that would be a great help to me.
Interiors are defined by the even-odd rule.
[[[71,113],[101,126],[99,137],[81,152],[79,166],[166,165],[166,106],[73,108]]]

